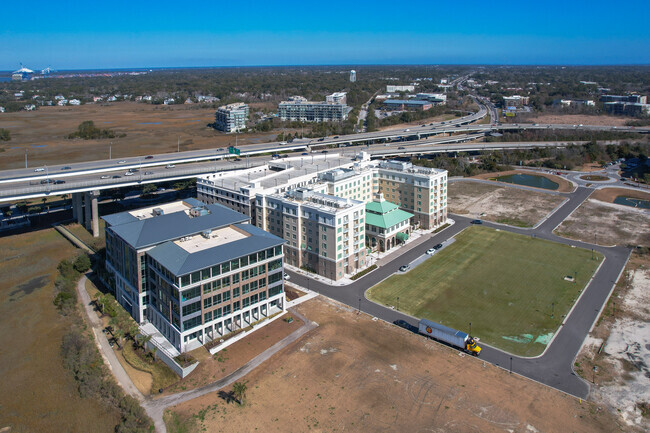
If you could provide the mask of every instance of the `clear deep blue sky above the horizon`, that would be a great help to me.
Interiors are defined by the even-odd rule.
[[[7,1],[0,70],[650,64],[650,1]]]

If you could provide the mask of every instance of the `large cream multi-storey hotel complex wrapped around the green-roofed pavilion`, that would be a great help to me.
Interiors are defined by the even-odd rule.
[[[383,193],[411,215],[408,229],[402,224],[397,231],[410,233],[411,226],[428,230],[447,220],[446,170],[371,161],[367,154],[355,162],[336,154],[312,154],[237,173],[204,175],[197,179],[197,193],[205,202],[251,215],[255,225],[284,238],[287,264],[334,280],[367,266],[360,244],[372,245],[366,242],[365,204],[374,194]],[[393,226],[387,227],[390,236],[396,235]],[[384,248],[388,238],[390,247],[395,245],[390,236],[384,237]]]

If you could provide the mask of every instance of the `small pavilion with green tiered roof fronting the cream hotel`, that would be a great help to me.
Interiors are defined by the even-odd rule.
[[[413,214],[386,201],[382,193],[366,204],[366,245],[380,252],[406,242],[413,229]]]

